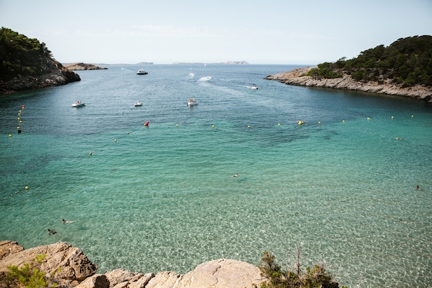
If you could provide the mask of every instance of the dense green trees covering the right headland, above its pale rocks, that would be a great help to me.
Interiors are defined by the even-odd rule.
[[[390,46],[384,45],[365,50],[358,57],[336,62],[324,62],[306,75],[315,79],[333,79],[343,74],[357,81],[390,80],[404,87],[432,86],[432,36],[401,38]]]

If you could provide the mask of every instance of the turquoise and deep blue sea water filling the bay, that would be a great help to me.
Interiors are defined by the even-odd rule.
[[[432,104],[264,79],[299,65],[104,67],[1,95],[0,240],[98,273],[300,249],[341,287],[431,287]]]

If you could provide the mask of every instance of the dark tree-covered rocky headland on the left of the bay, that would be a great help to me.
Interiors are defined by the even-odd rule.
[[[52,58],[46,44],[0,29],[0,91],[26,90],[79,81],[79,75]]]

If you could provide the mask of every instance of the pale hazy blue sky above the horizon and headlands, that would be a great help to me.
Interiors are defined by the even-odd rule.
[[[0,0],[63,63],[319,64],[432,35],[432,0]]]

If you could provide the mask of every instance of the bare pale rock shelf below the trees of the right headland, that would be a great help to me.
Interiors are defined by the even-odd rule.
[[[296,68],[288,72],[268,75],[264,79],[277,80],[281,83],[295,86],[354,90],[367,93],[410,97],[432,103],[432,87],[413,86],[403,88],[401,85],[391,84],[390,80],[384,81],[384,84],[378,84],[375,81],[364,83],[355,81],[351,76],[346,74],[335,79],[314,79],[311,76],[302,76],[312,68],[315,67]]]

